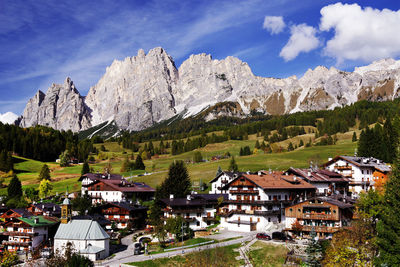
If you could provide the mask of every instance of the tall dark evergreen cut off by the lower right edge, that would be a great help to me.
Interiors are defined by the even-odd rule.
[[[399,159],[385,185],[383,212],[377,223],[377,266],[400,266],[400,169]]]

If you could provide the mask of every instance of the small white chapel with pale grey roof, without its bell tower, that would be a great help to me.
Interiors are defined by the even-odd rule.
[[[61,254],[70,245],[92,261],[104,259],[110,253],[110,236],[93,220],[71,220],[61,223],[54,236],[54,251]]]

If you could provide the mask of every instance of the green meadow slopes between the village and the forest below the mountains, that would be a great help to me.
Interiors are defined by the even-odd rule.
[[[306,129],[308,132],[308,129]],[[150,160],[145,160],[146,170],[135,170],[132,172],[121,173],[120,169],[122,162],[125,157],[129,156],[132,151],[129,149],[124,149],[116,142],[106,142],[104,144],[95,144],[97,148],[104,145],[106,152],[102,152],[107,156],[106,160],[98,160],[95,164],[91,164],[90,167],[94,172],[102,172],[104,166],[108,163],[112,165],[112,172],[119,173],[126,176],[138,175],[147,172],[149,175],[143,175],[139,177],[134,177],[134,181],[145,182],[152,187],[159,185],[167,176],[169,165],[175,160],[191,161],[195,151],[200,151],[206,162],[202,163],[188,163],[187,168],[189,175],[193,182],[198,183],[209,182],[215,177],[215,173],[219,166],[223,170],[226,170],[229,166],[230,159],[222,159],[218,161],[211,161],[212,156],[223,155],[229,152],[231,155],[235,156],[236,162],[239,166],[240,171],[257,171],[257,170],[286,170],[289,167],[308,167],[310,161],[315,164],[321,164],[329,157],[334,157],[336,155],[352,155],[357,146],[357,143],[351,142],[353,131],[344,134],[338,134],[339,141],[336,145],[332,146],[312,146],[309,148],[298,148],[291,152],[282,153],[271,153],[264,154],[259,151],[256,154],[250,156],[239,157],[239,151],[241,147],[250,146],[251,150],[254,149],[255,140],[262,140],[262,137],[257,137],[256,135],[250,135],[249,140],[229,140],[223,143],[209,144],[203,148],[183,153],[180,155],[160,155],[157,158],[152,158]],[[221,134],[221,133],[218,133]],[[287,147],[289,142],[294,145],[303,139],[304,143],[308,142],[310,138],[313,139],[314,134],[305,134],[297,136],[279,144],[276,146]],[[318,141],[318,139],[314,140]],[[154,142],[154,144],[157,144]],[[274,144],[275,145],[275,144]],[[38,187],[38,176],[40,169],[42,168],[44,162],[35,161],[31,159],[25,159],[21,157],[15,157],[16,163],[14,168],[19,179],[22,182],[23,187]],[[80,188],[80,183],[78,178],[80,177],[80,172],[82,165],[73,165],[70,167],[60,167],[59,164],[55,162],[46,162],[51,170],[51,177],[53,181],[53,193],[65,192],[68,190],[78,191]],[[5,183],[7,184],[10,178],[7,178]],[[0,189],[0,193],[5,193],[6,189]]]

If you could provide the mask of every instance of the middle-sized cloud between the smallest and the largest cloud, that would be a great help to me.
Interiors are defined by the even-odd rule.
[[[290,27],[290,39],[282,48],[279,56],[285,61],[295,59],[301,52],[310,52],[319,46],[319,40],[315,36],[317,30],[307,24],[293,25]]]

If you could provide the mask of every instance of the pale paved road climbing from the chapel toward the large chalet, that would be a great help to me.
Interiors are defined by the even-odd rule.
[[[153,259],[158,259],[158,258],[166,258],[166,257],[172,257],[176,255],[182,255],[182,254],[187,254],[190,252],[195,252],[195,251],[202,251],[206,249],[212,249],[216,247],[224,247],[224,246],[229,246],[233,244],[238,244],[242,243],[245,241],[250,241],[255,237],[255,233],[240,233],[239,235],[242,235],[242,238],[235,239],[235,240],[230,240],[230,241],[225,241],[221,243],[216,243],[216,244],[210,244],[206,246],[201,246],[201,247],[195,247],[195,248],[188,248],[188,249],[183,249],[183,250],[176,250],[176,251],[171,251],[171,252],[165,252],[165,253],[159,253],[159,254],[154,254],[154,255],[133,255],[133,246],[128,246],[128,248],[125,251],[121,251],[115,255],[114,258],[110,260],[105,260],[103,261],[100,265],[96,264],[96,266],[122,266],[123,263],[128,263],[128,262],[136,262],[136,261],[145,261],[145,260],[153,260]],[[184,252],[184,253],[182,253]]]

